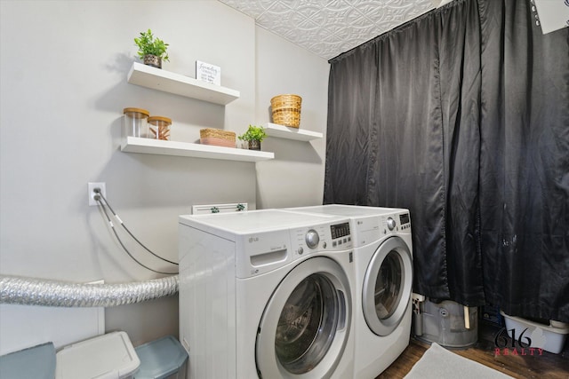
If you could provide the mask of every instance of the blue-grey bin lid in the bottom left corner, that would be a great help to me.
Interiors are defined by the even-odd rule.
[[[55,346],[44,343],[0,357],[0,378],[55,378]]]

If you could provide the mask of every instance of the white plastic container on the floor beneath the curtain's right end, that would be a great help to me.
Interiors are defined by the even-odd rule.
[[[563,322],[550,321],[556,327],[551,325],[541,324],[532,320],[525,320],[519,317],[509,316],[508,314],[500,311],[501,315],[506,320],[506,329],[508,335],[511,337],[511,330],[516,331],[516,338],[524,333],[524,337],[529,337],[532,340],[530,347],[536,347],[545,351],[558,354],[563,351],[565,339],[569,335],[569,325]],[[525,330],[527,329],[527,330]],[[525,338],[522,338],[525,343]]]

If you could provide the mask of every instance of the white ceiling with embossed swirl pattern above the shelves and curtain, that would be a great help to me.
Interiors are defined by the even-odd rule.
[[[220,0],[261,28],[332,59],[450,0]]]

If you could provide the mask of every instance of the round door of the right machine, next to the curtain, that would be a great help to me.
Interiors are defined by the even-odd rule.
[[[378,336],[388,336],[403,319],[411,301],[413,261],[399,237],[389,237],[375,250],[362,288],[365,322]]]

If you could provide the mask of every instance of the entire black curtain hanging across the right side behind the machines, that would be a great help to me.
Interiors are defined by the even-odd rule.
[[[410,209],[415,292],[569,321],[568,30],[457,0],[330,63],[324,202]]]

